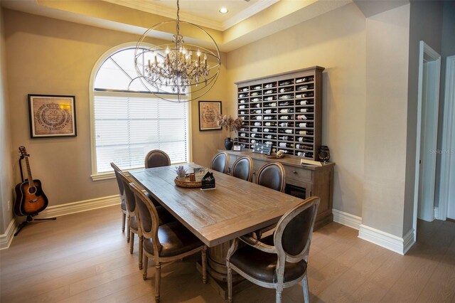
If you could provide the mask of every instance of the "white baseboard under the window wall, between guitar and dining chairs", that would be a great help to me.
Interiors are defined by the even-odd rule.
[[[82,211],[92,211],[93,209],[103,208],[120,204],[120,196],[107,196],[90,200],[77,201],[56,206],[49,206],[42,211],[36,218],[50,218],[69,215],[70,213],[80,213]]]

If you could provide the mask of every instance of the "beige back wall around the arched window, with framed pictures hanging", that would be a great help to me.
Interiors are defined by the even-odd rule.
[[[84,26],[52,18],[5,10],[6,61],[11,105],[12,149],[20,145],[31,154],[33,177],[41,179],[49,205],[82,201],[118,193],[114,179],[90,178],[89,79],[100,56],[139,36]],[[225,63],[223,63],[225,64]],[[207,100],[223,100],[222,70]],[[27,94],[75,95],[77,137],[30,139]],[[221,132],[200,134],[197,102],[192,106],[193,159],[208,164],[222,142]],[[221,147],[221,145],[219,146]],[[11,151],[10,151],[11,152]],[[20,179],[16,159],[14,181]]]

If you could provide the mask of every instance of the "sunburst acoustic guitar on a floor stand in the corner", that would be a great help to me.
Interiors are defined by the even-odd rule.
[[[19,153],[26,159],[28,179],[16,185],[16,203],[14,213],[16,216],[33,216],[43,211],[48,206],[48,198],[41,188],[41,181],[33,180],[30,163],[25,147],[19,147]],[[33,180],[31,182],[31,180]]]

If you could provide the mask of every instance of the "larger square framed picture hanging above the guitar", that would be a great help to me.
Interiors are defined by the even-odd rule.
[[[76,137],[75,96],[28,95],[31,138]]]

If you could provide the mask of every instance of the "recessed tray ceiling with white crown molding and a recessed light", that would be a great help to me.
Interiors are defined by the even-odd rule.
[[[350,3],[352,0],[181,0],[180,17],[182,21],[212,28],[220,50],[229,52]],[[111,14],[113,4],[124,7],[126,15],[122,9],[114,9]],[[144,15],[137,19],[132,11],[150,14],[154,20],[176,18],[176,0],[0,0],[0,5],[140,35],[154,23],[144,26]],[[227,7],[229,13],[220,14],[220,6]],[[152,36],[164,38],[160,34]],[[204,46],[206,41],[199,43]]]

